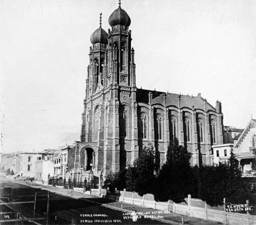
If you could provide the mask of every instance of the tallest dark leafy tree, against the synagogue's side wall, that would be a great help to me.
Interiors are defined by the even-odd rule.
[[[183,201],[190,194],[192,184],[191,153],[175,139],[168,147],[166,158],[157,178],[159,185],[155,193],[156,199]]]

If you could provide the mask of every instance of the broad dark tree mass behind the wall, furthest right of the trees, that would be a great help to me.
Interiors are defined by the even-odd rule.
[[[200,168],[199,196],[211,206],[222,205],[223,198],[233,204],[245,203],[250,199],[248,185],[241,177],[241,170],[236,155],[231,150],[228,164],[216,167],[203,165]]]

